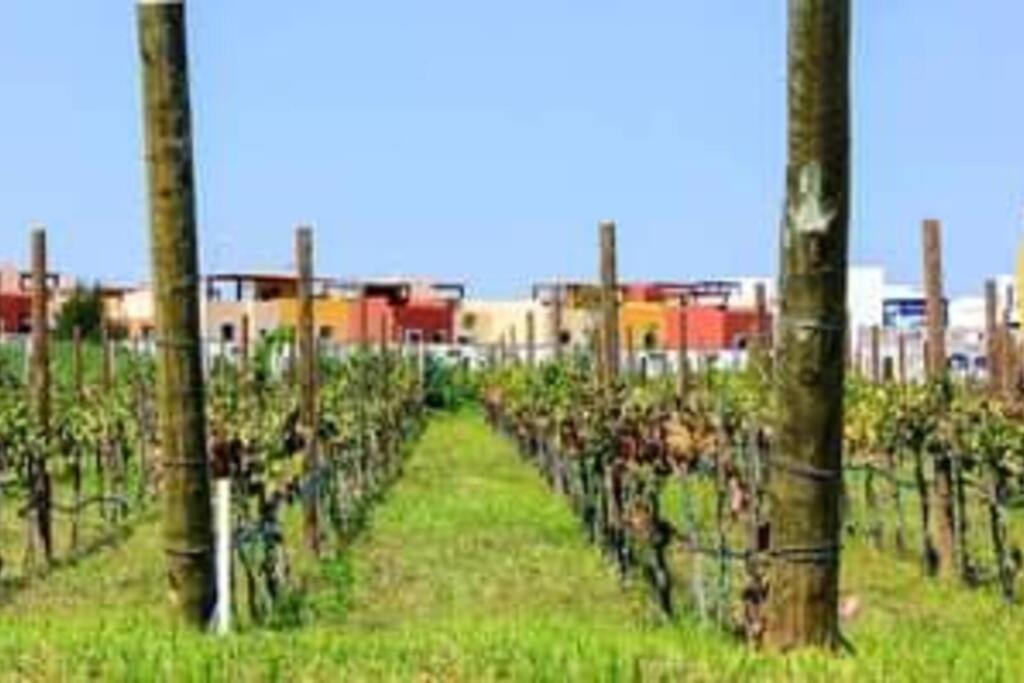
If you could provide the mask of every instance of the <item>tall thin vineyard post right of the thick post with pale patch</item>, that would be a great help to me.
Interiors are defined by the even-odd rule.
[[[942,241],[937,220],[923,225],[925,252],[925,297],[928,316],[928,377],[933,383],[948,382],[946,364],[945,303],[942,292]],[[945,390],[943,390],[945,391]],[[956,569],[956,513],[953,501],[953,472],[949,453],[933,454],[935,458],[934,495],[936,499],[936,550],[938,570],[951,575]]]

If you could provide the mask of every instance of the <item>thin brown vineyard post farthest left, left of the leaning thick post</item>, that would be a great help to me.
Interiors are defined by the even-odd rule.
[[[42,444],[41,453],[33,455],[30,462],[32,476],[32,507],[35,516],[35,533],[43,546],[46,563],[53,560],[53,528],[51,519],[50,475],[47,455],[50,446],[50,341],[49,341],[49,280],[46,266],[46,230],[32,231],[32,408],[37,433]],[[30,529],[32,525],[30,519]],[[33,531],[29,531],[34,539]],[[32,542],[32,546],[35,541]]]

